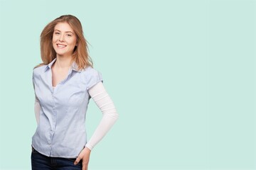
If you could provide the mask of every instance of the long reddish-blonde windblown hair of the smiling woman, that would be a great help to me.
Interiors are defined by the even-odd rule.
[[[82,32],[82,24],[72,15],[60,16],[55,18],[55,20],[48,23],[48,25],[43,28],[41,33],[41,59],[43,63],[38,64],[36,67],[49,64],[56,57],[56,52],[53,49],[53,32],[54,28],[58,23],[68,23],[70,27],[74,30],[78,45],[75,47],[73,52],[73,61],[78,64],[78,69],[84,69],[85,67],[93,65],[92,60],[88,54],[87,40]],[[35,68],[36,68],[35,67]]]

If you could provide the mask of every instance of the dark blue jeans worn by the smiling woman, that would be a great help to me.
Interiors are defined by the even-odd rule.
[[[47,157],[33,149],[31,153],[32,170],[81,170],[82,162],[74,165],[75,159]]]

